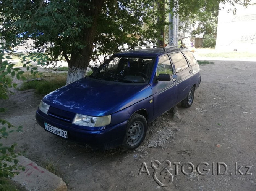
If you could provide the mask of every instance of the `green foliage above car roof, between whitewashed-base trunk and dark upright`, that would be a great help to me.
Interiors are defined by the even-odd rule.
[[[112,54],[143,44],[147,9],[144,1],[106,2],[98,18],[91,59],[104,62]]]

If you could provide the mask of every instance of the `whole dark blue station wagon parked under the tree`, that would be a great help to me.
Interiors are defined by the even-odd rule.
[[[52,134],[94,148],[137,148],[148,123],[181,103],[190,107],[199,65],[181,46],[113,55],[81,80],[46,95],[37,123]]]

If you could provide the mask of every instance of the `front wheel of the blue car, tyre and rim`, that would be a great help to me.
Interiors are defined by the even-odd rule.
[[[147,120],[144,116],[135,113],[128,120],[125,138],[123,140],[124,149],[135,149],[144,140],[147,132]]]

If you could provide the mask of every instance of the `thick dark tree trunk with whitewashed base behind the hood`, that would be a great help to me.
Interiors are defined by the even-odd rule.
[[[99,18],[99,14],[102,10],[103,3],[104,0],[91,0],[91,9],[88,10],[88,8],[85,8],[85,10],[83,10],[84,13],[87,13],[89,16],[93,16],[94,19],[90,28],[86,28],[81,31],[83,33],[81,41],[84,42],[85,47],[83,49],[75,49],[71,53],[66,84],[79,80],[86,74],[86,69],[89,66],[91,59],[97,19]]]

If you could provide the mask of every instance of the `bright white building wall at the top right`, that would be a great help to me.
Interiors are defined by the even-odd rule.
[[[256,3],[256,0],[253,2]],[[219,11],[216,50],[217,51],[250,51],[256,52],[256,6],[249,5],[246,9],[236,5],[236,14],[228,9],[230,5]]]

